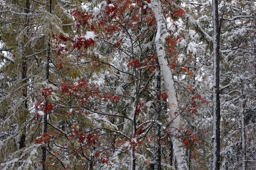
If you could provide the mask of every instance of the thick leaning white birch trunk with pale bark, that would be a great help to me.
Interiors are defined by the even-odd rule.
[[[176,92],[174,89],[174,80],[172,76],[172,71],[168,66],[167,60],[165,59],[166,57],[165,38],[167,33],[165,17],[163,15],[163,10],[161,7],[160,0],[151,0],[151,8],[157,23],[157,33],[155,35],[155,47],[156,47],[157,57],[159,60],[159,65],[162,69],[165,86],[167,89],[169,109],[170,109],[170,120],[172,121],[171,127],[175,136],[178,133],[178,131],[177,130],[175,131],[175,129],[178,129],[180,126],[180,115],[175,114],[177,113],[178,103],[176,99]],[[187,170],[186,161],[184,159],[183,144],[175,137],[172,137],[172,142],[173,142],[174,156],[176,158],[178,170]]]

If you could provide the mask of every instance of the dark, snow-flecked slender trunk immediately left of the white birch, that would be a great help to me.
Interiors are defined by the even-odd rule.
[[[159,65],[158,65],[159,66]],[[155,72],[154,89],[155,95],[158,100],[155,100],[155,121],[160,122],[161,120],[161,100],[160,100],[160,87],[161,87],[161,75],[160,68]],[[155,124],[155,157],[154,157],[154,170],[161,170],[161,125]]]

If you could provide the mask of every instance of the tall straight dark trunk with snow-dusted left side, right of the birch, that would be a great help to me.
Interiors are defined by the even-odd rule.
[[[213,135],[212,135],[212,170],[219,170],[220,164],[220,102],[219,102],[219,10],[218,0],[212,0],[212,20],[213,20]]]

